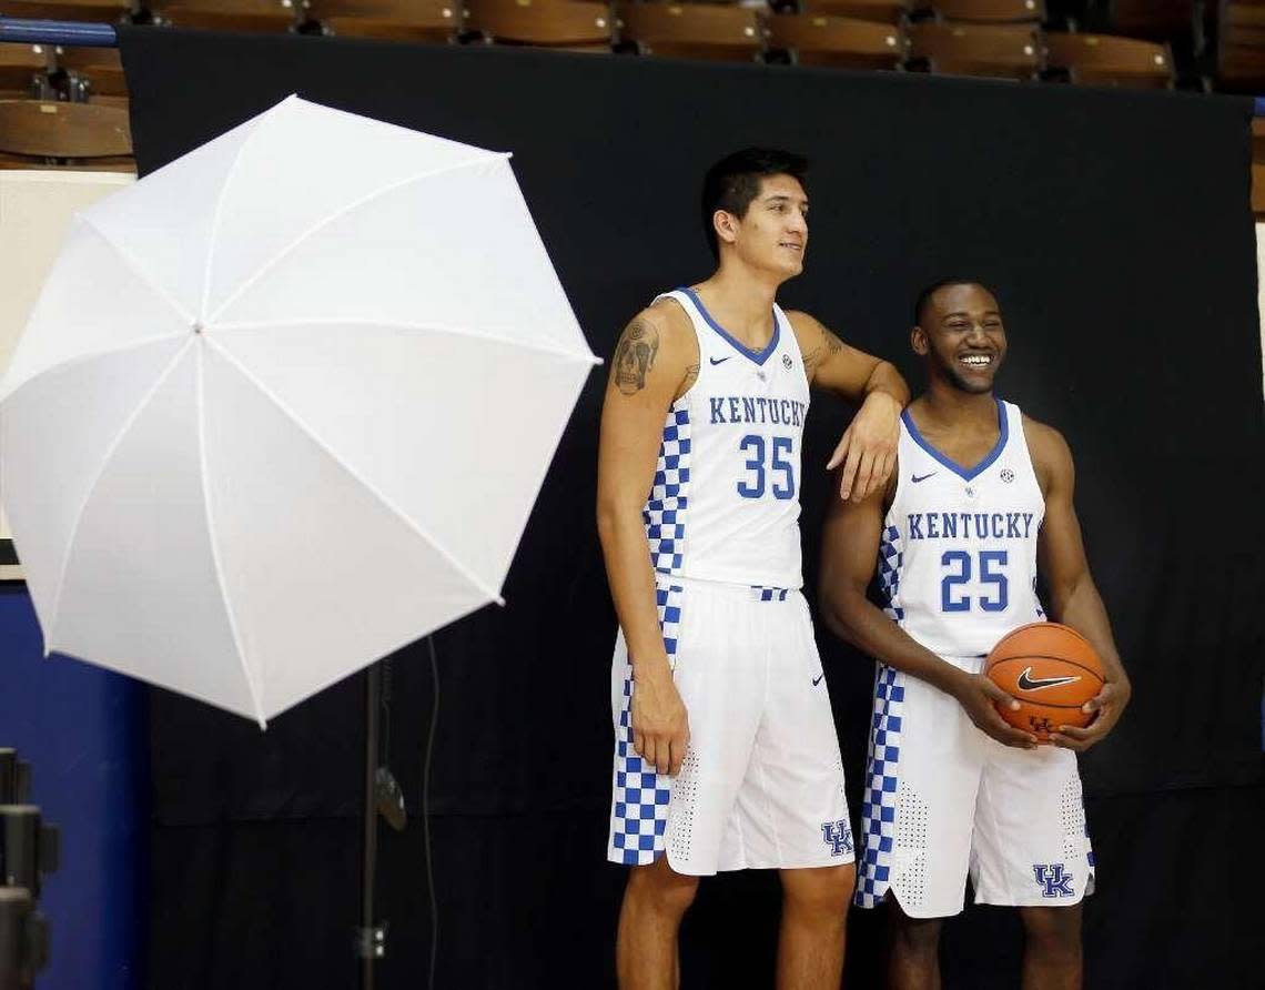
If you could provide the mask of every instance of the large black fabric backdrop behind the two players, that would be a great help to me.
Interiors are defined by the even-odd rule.
[[[698,180],[748,143],[812,158],[808,266],[783,304],[912,376],[917,287],[945,272],[997,286],[1002,392],[1077,454],[1090,561],[1136,685],[1120,729],[1082,761],[1099,862],[1089,986],[1265,985],[1265,433],[1246,101],[159,30],[125,30],[123,53],[143,173],[290,92],[512,151],[600,354],[655,291],[707,273]],[[602,861],[614,615],[592,522],[601,377],[563,438],[509,605],[435,637],[440,987],[612,984],[622,874]],[[806,465],[825,462],[846,415],[818,399]],[[824,472],[803,486],[810,589],[827,487]],[[822,649],[855,785],[872,667],[826,636]],[[383,837],[387,990],[425,986],[431,948],[423,646],[397,656],[392,681],[392,762],[414,820]],[[152,986],[355,985],[361,696],[352,679],[261,736],[153,692]],[[769,874],[705,884],[683,985],[772,985],[775,894]],[[854,913],[851,925],[850,985],[878,986],[878,922]],[[946,986],[1016,986],[1012,914],[969,910],[944,957]]]

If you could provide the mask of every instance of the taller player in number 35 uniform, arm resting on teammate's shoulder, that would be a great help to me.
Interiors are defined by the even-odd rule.
[[[781,870],[778,986],[839,986],[854,885],[830,699],[799,592],[810,385],[860,404],[830,466],[882,486],[908,391],[778,286],[803,268],[806,162],[748,149],[713,166],[702,219],[719,267],[621,337],[602,413],[598,528],[620,634],[608,858],[631,866],[625,990],[678,984],[698,877]]]

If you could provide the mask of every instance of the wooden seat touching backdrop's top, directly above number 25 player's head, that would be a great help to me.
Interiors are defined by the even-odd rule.
[[[1040,32],[1016,24],[910,25],[910,57],[932,72],[990,78],[1035,78],[1042,68]]]

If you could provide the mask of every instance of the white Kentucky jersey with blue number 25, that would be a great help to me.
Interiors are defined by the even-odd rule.
[[[888,614],[941,657],[987,655],[1006,633],[1045,619],[1036,541],[1045,499],[1023,419],[997,400],[997,446],[966,468],[901,417],[896,498],[879,544]]]

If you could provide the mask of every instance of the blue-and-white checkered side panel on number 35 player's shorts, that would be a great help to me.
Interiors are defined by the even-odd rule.
[[[677,639],[681,634],[681,587],[676,585],[655,591],[659,624],[663,627],[663,646],[672,665],[677,662]],[[663,852],[672,779],[667,775],[660,776],[632,748],[631,701],[630,666],[624,679],[624,701],[620,705],[620,724],[615,737],[615,806],[611,813],[608,852],[615,862],[625,866],[645,866],[653,863]]]

